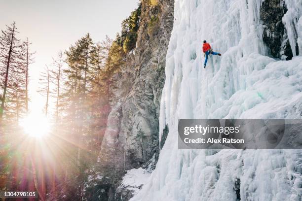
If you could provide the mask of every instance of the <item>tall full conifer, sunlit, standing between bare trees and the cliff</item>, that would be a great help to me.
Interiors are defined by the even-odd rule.
[[[109,48],[110,45],[107,49]],[[95,141],[91,139],[93,135],[91,131],[97,108],[93,108],[92,102],[100,100],[94,93],[97,92],[95,83],[98,82],[99,72],[103,70],[103,62],[105,64],[107,59],[103,51],[101,45],[94,44],[90,35],[86,34],[65,52],[68,67],[64,69],[66,88],[62,94],[62,100],[65,102],[63,119],[72,122],[69,130],[77,145],[74,154],[81,172],[78,177],[79,195],[83,193],[84,172],[91,163],[90,151],[93,149],[90,147],[91,141]]]

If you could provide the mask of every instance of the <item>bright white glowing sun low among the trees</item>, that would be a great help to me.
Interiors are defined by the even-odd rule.
[[[42,114],[29,114],[20,120],[24,132],[32,137],[43,137],[49,134],[51,126],[49,120]]]

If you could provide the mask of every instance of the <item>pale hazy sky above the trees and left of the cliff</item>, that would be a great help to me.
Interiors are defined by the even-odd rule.
[[[37,94],[38,77],[61,50],[90,33],[95,42],[106,34],[115,37],[121,22],[138,7],[139,0],[0,0],[0,29],[16,22],[17,37],[32,42],[36,52],[30,67],[30,109],[41,111],[44,100]]]

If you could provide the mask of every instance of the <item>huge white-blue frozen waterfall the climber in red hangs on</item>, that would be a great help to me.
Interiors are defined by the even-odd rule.
[[[161,98],[157,166],[132,201],[301,201],[301,150],[181,150],[178,119],[302,118],[302,56],[267,54],[262,0],[175,0]],[[292,49],[302,49],[302,0],[285,0]],[[202,41],[223,56],[203,68]],[[302,51],[299,51],[302,55]]]

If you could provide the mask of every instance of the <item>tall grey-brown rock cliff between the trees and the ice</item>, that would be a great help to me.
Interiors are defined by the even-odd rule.
[[[136,48],[113,78],[112,111],[99,156],[101,189],[109,201],[125,170],[158,157],[158,119],[165,81],[165,57],[173,28],[174,0],[143,0]],[[150,164],[149,164],[150,167]],[[124,195],[124,196],[121,196]],[[104,197],[103,197],[104,198]]]

